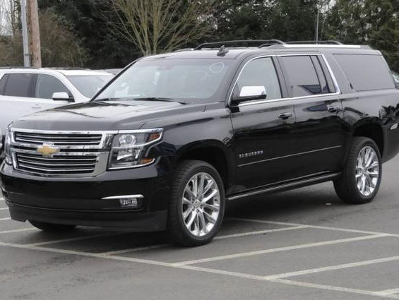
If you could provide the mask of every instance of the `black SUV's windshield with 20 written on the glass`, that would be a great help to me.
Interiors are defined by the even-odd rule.
[[[218,90],[230,61],[220,59],[157,59],[133,64],[97,99],[163,98],[206,100]]]

